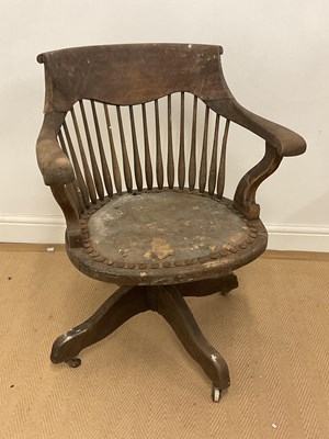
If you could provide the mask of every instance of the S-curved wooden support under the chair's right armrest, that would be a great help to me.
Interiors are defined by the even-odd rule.
[[[260,183],[277,169],[281,160],[282,157],[277,154],[277,150],[266,143],[264,157],[240,180],[234,203],[248,219],[259,217],[260,206],[256,203],[256,191]]]

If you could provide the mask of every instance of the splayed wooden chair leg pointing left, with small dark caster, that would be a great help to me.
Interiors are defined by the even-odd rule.
[[[59,336],[53,345],[53,363],[80,365],[78,353],[117,329],[136,314],[147,311],[146,291],[141,286],[122,286],[86,322]]]

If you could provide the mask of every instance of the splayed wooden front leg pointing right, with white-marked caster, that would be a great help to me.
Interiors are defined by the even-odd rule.
[[[152,309],[169,323],[186,351],[212,380],[213,399],[219,401],[220,392],[230,384],[227,363],[201,333],[179,289],[173,285],[159,286],[157,303],[155,299],[152,301]]]

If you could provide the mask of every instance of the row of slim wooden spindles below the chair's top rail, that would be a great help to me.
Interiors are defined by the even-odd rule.
[[[180,92],[128,106],[81,100],[67,113],[58,143],[72,162],[83,211],[144,188],[222,198],[228,130],[229,121]]]

